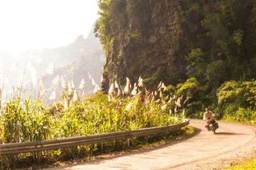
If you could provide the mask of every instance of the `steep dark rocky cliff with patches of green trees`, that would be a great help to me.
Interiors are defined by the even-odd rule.
[[[106,53],[105,90],[114,80],[124,84],[125,76],[133,82],[142,76],[148,87],[188,77],[214,81],[214,69],[217,86],[255,76],[254,1],[102,0],[99,7],[95,33]]]

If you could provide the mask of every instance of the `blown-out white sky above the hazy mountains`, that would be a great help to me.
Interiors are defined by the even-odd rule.
[[[97,0],[0,0],[0,50],[54,48],[88,35]]]

